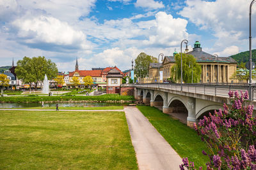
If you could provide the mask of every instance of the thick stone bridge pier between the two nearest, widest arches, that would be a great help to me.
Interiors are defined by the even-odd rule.
[[[189,97],[188,101],[188,117],[187,117],[187,125],[189,127],[193,127],[196,122],[196,99],[194,97]]]

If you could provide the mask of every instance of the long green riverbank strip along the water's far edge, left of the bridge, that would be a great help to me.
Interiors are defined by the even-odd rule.
[[[133,96],[104,94],[101,96],[13,96],[0,97],[0,103],[132,103]]]

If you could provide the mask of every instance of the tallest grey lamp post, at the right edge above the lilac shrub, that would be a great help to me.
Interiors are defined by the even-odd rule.
[[[249,81],[249,100],[252,101],[252,5],[255,3],[255,0],[250,4],[250,13],[249,13],[249,22],[250,22],[250,36],[249,36],[249,49],[250,49],[250,59],[249,59],[249,67],[250,67],[250,81]]]

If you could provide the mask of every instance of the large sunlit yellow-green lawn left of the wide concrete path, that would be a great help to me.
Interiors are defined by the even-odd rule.
[[[1,111],[0,169],[138,169],[124,112]]]

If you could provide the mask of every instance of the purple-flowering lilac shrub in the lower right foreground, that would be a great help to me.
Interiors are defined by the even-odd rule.
[[[255,169],[256,170],[256,118],[252,117],[253,106],[248,105],[248,92],[241,95],[228,92],[232,108],[209,113],[194,124],[195,130],[209,151],[207,169]],[[180,169],[195,169],[193,162],[183,159]],[[200,167],[202,169],[202,167]]]

